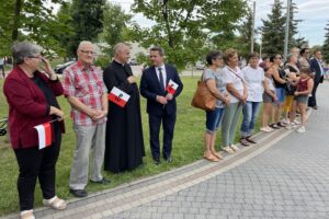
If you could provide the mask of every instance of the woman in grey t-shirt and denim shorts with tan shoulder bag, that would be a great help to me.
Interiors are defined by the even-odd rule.
[[[219,152],[215,150],[216,131],[220,125],[224,107],[229,105],[229,97],[226,93],[226,84],[223,72],[223,54],[220,51],[211,51],[206,56],[208,68],[203,73],[203,80],[212,94],[217,99],[214,111],[206,112],[206,131],[204,135],[205,151],[204,159],[216,162],[223,159]]]

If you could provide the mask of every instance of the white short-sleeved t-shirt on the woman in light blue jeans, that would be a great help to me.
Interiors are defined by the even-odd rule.
[[[248,97],[247,101],[251,102],[262,102],[264,87],[264,71],[262,68],[257,67],[251,68],[250,66],[247,66],[242,69],[243,79],[246,81],[246,85],[248,89]]]

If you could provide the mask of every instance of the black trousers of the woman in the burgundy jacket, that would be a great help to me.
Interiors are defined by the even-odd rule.
[[[37,146],[14,150],[20,168],[18,189],[21,211],[33,209],[36,178],[38,178],[45,199],[55,196],[55,166],[59,155],[60,142],[61,132],[59,126],[57,126],[55,128],[55,142],[52,146],[42,150],[38,150]]]

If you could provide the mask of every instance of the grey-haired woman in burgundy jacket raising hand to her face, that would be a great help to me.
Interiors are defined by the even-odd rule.
[[[18,189],[22,219],[34,219],[33,203],[38,178],[43,203],[55,209],[65,209],[66,203],[56,196],[55,166],[59,154],[64,113],[56,96],[63,87],[49,61],[41,56],[42,48],[29,42],[12,47],[14,68],[3,85],[9,104],[9,132],[20,168]],[[41,65],[42,64],[42,65]],[[44,72],[39,71],[43,66]],[[50,123],[52,141],[39,149],[35,126]]]

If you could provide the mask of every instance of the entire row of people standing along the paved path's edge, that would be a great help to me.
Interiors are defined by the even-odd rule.
[[[64,71],[63,83],[42,57],[42,48],[30,42],[16,43],[12,47],[14,68],[3,85],[9,104],[10,141],[20,168],[18,191],[22,219],[34,219],[33,204],[36,180],[41,184],[43,203],[54,209],[65,209],[66,201],[56,196],[56,162],[60,151],[61,134],[65,132],[64,112],[56,96],[65,95],[71,106],[70,116],[76,134],[76,148],[71,164],[69,188],[76,197],[86,197],[88,181],[109,184],[102,173],[120,173],[136,169],[143,163],[145,147],[140,116],[140,95],[127,64],[129,47],[118,43],[114,58],[103,70],[93,65],[95,46],[81,42],[77,49],[77,62]],[[293,128],[296,125],[297,106],[302,114],[299,132],[305,131],[305,113],[308,105],[317,106],[316,91],[324,77],[320,51],[309,60],[306,49],[300,58],[296,53],[288,56],[281,68],[282,57],[276,54],[259,66],[260,57],[251,53],[249,65],[238,67],[236,49],[225,53],[211,51],[206,56],[208,68],[202,79],[217,99],[214,111],[206,112],[204,158],[212,162],[223,159],[215,149],[216,131],[222,124],[222,149],[234,153],[236,128],[242,113],[240,143],[257,143],[252,138],[257,117],[263,102],[262,131],[280,126]],[[164,64],[164,51],[152,47],[149,51],[151,67],[144,70],[140,79],[140,94],[147,100],[149,142],[156,165],[172,162],[172,139],[177,118],[175,99],[183,90],[177,69]],[[41,69],[42,68],[42,69]],[[314,72],[314,74],[313,74]],[[117,105],[109,101],[113,89],[129,96],[127,103]],[[292,90],[291,92],[290,89]],[[111,100],[111,99],[110,99]],[[284,104],[285,102],[285,104]],[[281,120],[285,108],[284,122]],[[269,125],[269,115],[272,124]],[[35,126],[47,124],[52,139],[39,149],[41,139]],[[159,132],[162,124],[163,142],[160,150]],[[89,172],[89,158],[91,168]],[[90,177],[89,177],[90,175]]]

